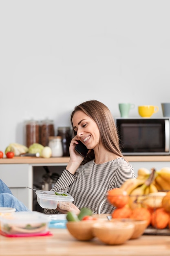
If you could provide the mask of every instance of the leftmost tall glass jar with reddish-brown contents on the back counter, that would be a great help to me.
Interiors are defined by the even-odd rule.
[[[40,143],[40,126],[35,120],[25,121],[26,146],[29,148],[33,143]]]

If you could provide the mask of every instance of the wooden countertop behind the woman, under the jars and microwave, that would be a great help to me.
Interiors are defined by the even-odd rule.
[[[125,156],[129,162],[170,162],[170,155]],[[65,164],[69,157],[13,157],[1,158],[0,164]]]

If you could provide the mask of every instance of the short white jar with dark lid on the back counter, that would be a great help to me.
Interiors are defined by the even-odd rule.
[[[52,150],[52,157],[62,157],[62,137],[61,136],[50,136],[49,137],[49,147]]]

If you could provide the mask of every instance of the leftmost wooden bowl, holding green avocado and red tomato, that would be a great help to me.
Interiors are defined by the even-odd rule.
[[[93,224],[97,220],[68,221],[66,227],[69,233],[77,240],[91,240],[94,238]]]

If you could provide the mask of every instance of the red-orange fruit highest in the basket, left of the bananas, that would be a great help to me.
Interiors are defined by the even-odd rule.
[[[113,206],[122,208],[128,203],[129,195],[123,189],[116,188],[108,191],[107,199]]]

